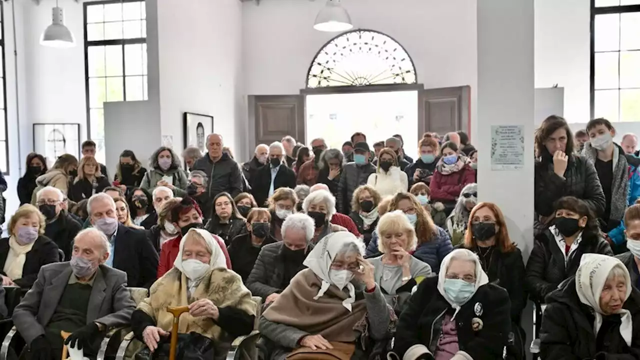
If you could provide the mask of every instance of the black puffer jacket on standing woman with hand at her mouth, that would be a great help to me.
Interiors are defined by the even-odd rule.
[[[596,168],[580,156],[570,155],[563,179],[554,173],[552,158],[548,153],[545,154],[541,160],[536,160],[534,186],[534,208],[543,217],[554,213],[554,202],[564,196],[584,200],[596,217],[604,213],[606,201]]]

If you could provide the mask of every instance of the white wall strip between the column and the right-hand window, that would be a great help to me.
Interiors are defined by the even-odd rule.
[[[564,87],[564,117],[568,122],[586,123],[591,115],[591,3],[536,0],[535,6],[536,88]]]

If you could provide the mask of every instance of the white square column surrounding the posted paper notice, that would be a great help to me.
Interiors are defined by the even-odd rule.
[[[477,2],[478,196],[506,217],[525,260],[533,246],[534,0]],[[524,126],[524,168],[492,170],[492,126]]]

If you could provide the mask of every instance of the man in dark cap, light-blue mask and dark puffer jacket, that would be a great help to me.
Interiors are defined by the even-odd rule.
[[[336,209],[339,213],[349,215],[351,197],[360,185],[367,183],[369,175],[376,172],[376,167],[369,162],[369,144],[358,142],[353,147],[353,160],[342,167],[342,176],[338,184]]]

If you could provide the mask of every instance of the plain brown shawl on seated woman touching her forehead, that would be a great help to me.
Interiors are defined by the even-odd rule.
[[[328,341],[355,341],[353,328],[367,313],[365,300],[351,304],[352,310],[349,312],[342,305],[348,298],[347,293],[338,290],[335,285],[329,286],[321,297],[314,300],[321,286],[321,279],[312,270],[302,270],[264,311],[264,318],[309,334],[321,334]]]

